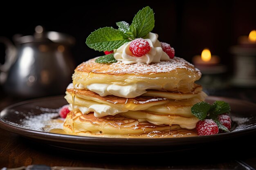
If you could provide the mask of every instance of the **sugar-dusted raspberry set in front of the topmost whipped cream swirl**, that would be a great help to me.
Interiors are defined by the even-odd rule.
[[[141,57],[150,51],[150,45],[146,40],[137,38],[130,43],[130,51],[135,57]]]

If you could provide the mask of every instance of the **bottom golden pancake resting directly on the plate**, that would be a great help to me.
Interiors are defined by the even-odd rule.
[[[166,134],[170,137],[169,125],[154,125],[148,122],[139,122],[136,119],[126,118],[119,115],[97,118],[92,113],[83,115],[79,111],[74,112],[74,133],[72,133],[72,112],[70,112],[64,122],[63,130],[70,134],[81,136],[100,137],[148,137],[149,135]],[[179,131],[184,135],[195,135],[193,131],[181,129],[178,125],[171,126],[173,134]],[[176,131],[177,130],[177,131]],[[152,134],[151,134],[152,133]],[[177,135],[180,137],[182,135]]]

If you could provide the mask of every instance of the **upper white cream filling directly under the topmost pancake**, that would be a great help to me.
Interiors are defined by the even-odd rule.
[[[161,86],[146,82],[131,83],[128,85],[117,85],[108,83],[92,83],[86,86],[90,91],[93,91],[100,96],[115,95],[118,97],[134,98],[146,93],[146,89],[160,90]]]

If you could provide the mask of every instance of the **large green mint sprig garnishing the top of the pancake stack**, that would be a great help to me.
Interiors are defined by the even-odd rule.
[[[145,7],[135,15],[131,25],[125,21],[117,22],[116,24],[119,27],[118,29],[104,27],[92,32],[86,39],[86,44],[96,51],[112,51],[135,38],[143,38],[155,26],[154,12],[150,7]],[[102,56],[101,59],[104,58],[104,60],[95,60],[95,62],[117,62],[114,57],[111,60],[108,57]]]

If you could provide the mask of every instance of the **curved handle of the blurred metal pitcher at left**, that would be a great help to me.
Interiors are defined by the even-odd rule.
[[[12,64],[16,61],[17,49],[14,44],[6,37],[0,37],[0,43],[5,45],[5,62],[0,63],[0,83],[4,83],[7,78],[7,73]]]

